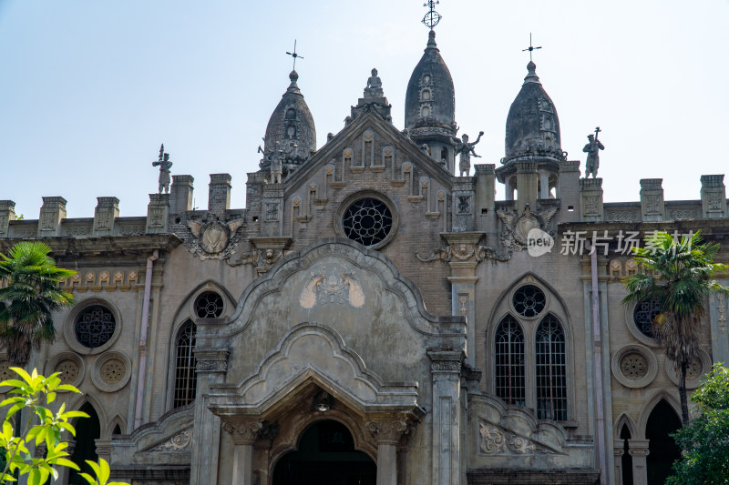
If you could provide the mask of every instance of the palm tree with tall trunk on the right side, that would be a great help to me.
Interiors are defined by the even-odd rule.
[[[673,361],[679,376],[684,426],[689,422],[686,368],[698,358],[700,321],[706,298],[716,291],[729,292],[729,288],[709,279],[729,266],[714,263],[719,245],[704,243],[700,233],[675,240],[667,232],[656,231],[646,237],[645,248],[634,249],[636,260],[646,272],[623,279],[628,291],[623,303],[647,299],[660,305],[661,312],[654,318],[652,330],[665,345],[666,357]]]

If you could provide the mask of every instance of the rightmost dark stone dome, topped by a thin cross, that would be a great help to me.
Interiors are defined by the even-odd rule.
[[[529,61],[527,69],[529,74],[508,110],[506,159],[502,162],[534,156],[564,160],[557,109],[539,82],[537,65]]]

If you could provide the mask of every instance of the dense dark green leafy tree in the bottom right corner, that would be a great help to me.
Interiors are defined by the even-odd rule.
[[[685,453],[666,484],[729,485],[729,369],[714,364],[691,400],[691,423],[673,434]]]

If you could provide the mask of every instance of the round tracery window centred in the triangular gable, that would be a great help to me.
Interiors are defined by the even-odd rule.
[[[375,246],[385,240],[393,228],[393,215],[384,202],[366,197],[344,211],[344,235],[363,246]]]

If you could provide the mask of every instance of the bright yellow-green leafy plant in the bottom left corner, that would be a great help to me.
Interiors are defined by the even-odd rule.
[[[49,477],[56,480],[58,478],[57,469],[60,467],[79,470],[76,463],[68,460],[68,443],[62,440],[62,433],[68,431],[71,435],[76,436],[76,429],[70,420],[87,418],[88,415],[81,411],[67,411],[65,404],[61,404],[56,412],[46,408],[56,400],[58,391],[79,392],[79,390],[62,384],[57,372],[46,378],[39,375],[36,369],[31,374],[24,369],[11,369],[20,379],[8,379],[0,382],[0,388],[3,390],[10,388],[6,394],[11,396],[0,402],[1,408],[9,406],[0,432],[0,447],[5,450],[5,467],[0,475],[0,485],[15,481],[15,473],[20,476],[27,475],[28,485],[42,485]],[[20,413],[22,409],[26,409],[27,419],[25,427],[17,433],[13,426],[13,417],[22,416],[23,413]],[[31,443],[36,447],[45,444],[46,457],[34,458],[27,448]],[[87,473],[81,473],[89,484],[128,485],[108,481],[109,467],[106,460],[101,459],[98,463],[87,460],[87,463],[97,475],[94,478]]]

